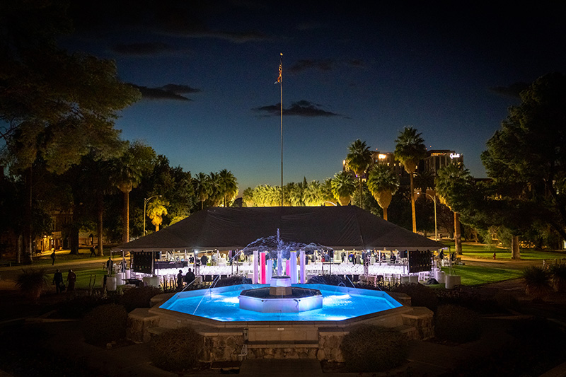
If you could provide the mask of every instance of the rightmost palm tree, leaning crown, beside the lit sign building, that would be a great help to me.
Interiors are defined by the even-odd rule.
[[[450,192],[454,185],[459,182],[473,180],[472,175],[470,175],[470,170],[464,168],[460,163],[452,163],[450,165],[444,166],[437,172],[437,194],[439,196],[440,202],[448,206],[451,211],[450,204]],[[462,236],[460,230],[460,214],[454,211],[454,243],[456,246],[456,254],[462,255]]]

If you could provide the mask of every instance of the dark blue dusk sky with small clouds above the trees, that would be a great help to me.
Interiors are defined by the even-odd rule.
[[[280,182],[279,53],[284,182],[333,176],[355,139],[393,151],[405,126],[485,177],[517,89],[566,71],[563,2],[390,2],[73,1],[61,44],[140,88],[123,139],[193,174],[231,170],[241,191]]]

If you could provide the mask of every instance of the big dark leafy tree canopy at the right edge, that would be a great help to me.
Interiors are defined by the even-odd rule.
[[[566,239],[566,76],[546,74],[521,92],[482,161],[497,197]]]

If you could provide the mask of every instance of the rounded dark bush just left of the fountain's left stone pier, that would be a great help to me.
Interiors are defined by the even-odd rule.
[[[83,335],[86,342],[103,344],[124,338],[127,318],[126,309],[117,303],[93,308],[83,318]]]

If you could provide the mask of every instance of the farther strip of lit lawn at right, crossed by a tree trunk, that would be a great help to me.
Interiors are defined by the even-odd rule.
[[[450,251],[454,252],[454,241],[443,240],[442,243],[449,246]],[[496,253],[498,260],[511,260],[511,250],[509,250],[509,248],[499,248],[495,245],[486,245],[483,243],[462,243],[462,254],[466,257],[493,259],[493,253]],[[566,253],[562,250],[521,249],[521,260],[553,260],[564,257],[566,257]]]

